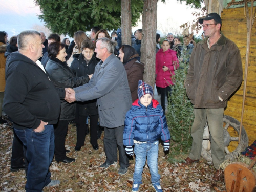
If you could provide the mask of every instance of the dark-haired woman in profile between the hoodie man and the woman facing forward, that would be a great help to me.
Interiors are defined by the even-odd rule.
[[[89,81],[89,76],[76,77],[66,63],[65,44],[59,41],[52,42],[48,46],[49,60],[46,64],[46,71],[51,80],[59,88],[75,88]],[[68,132],[69,121],[75,118],[75,104],[60,100],[61,110],[57,124],[54,125],[55,160],[63,163],[75,161],[66,156],[65,140]]]

